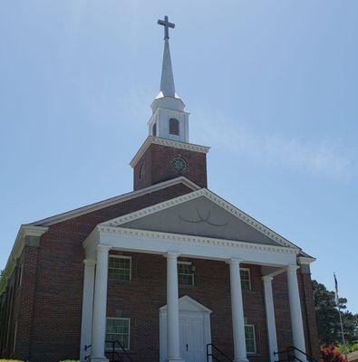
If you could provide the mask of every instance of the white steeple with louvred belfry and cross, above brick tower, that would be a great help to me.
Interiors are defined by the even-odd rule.
[[[153,112],[148,122],[150,136],[169,138],[181,142],[189,142],[189,113],[185,112],[185,104],[175,92],[173,69],[169,49],[168,16],[159,20],[164,26],[164,52],[161,66],[160,93],[151,103]]]

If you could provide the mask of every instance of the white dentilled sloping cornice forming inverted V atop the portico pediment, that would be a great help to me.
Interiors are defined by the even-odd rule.
[[[104,226],[120,226],[121,224],[129,223],[133,220],[136,220],[140,217],[146,216],[148,214],[156,213],[160,210],[168,209],[171,206],[179,205],[182,203],[185,203],[189,200],[193,200],[195,198],[198,198],[200,196],[205,196],[212,202],[216,203],[220,207],[222,207],[224,210],[229,212],[230,214],[235,215],[238,219],[245,222],[246,224],[250,225],[251,227],[255,228],[260,233],[265,234],[267,237],[272,239],[274,242],[285,246],[285,247],[293,247],[296,250],[300,250],[298,246],[296,246],[294,243],[289,242],[284,237],[280,236],[278,233],[275,233],[271,229],[267,228],[264,224],[259,223],[254,218],[249,216],[248,214],[244,213],[243,211],[239,210],[234,205],[231,205],[227,203],[226,200],[219,197],[218,195],[214,194],[213,192],[209,191],[207,188],[201,188],[198,191],[194,191],[192,193],[181,195],[176,198],[172,198],[170,200],[164,201],[160,204],[152,205],[150,207],[146,207],[143,209],[140,209],[139,211],[131,214],[126,214],[121,217],[118,217],[116,219],[110,220],[108,222],[102,223],[100,225]]]

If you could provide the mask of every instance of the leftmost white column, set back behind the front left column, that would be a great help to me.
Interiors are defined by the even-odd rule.
[[[88,354],[85,346],[92,342],[92,313],[93,313],[93,291],[94,291],[94,269],[96,262],[90,259],[83,261],[83,296],[82,296],[82,327],[81,327],[81,350],[80,359],[83,361]],[[91,349],[89,349],[90,351]]]

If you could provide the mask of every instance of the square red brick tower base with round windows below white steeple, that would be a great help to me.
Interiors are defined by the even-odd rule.
[[[178,172],[171,166],[174,157],[183,157],[188,163],[188,169]],[[140,167],[145,166],[145,173],[140,179]],[[134,167],[134,190],[158,184],[178,176],[186,176],[198,186],[207,187],[207,156],[205,153],[171,148],[151,144]]]

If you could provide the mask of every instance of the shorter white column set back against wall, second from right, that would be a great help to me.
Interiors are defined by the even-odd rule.
[[[268,349],[270,354],[270,361],[276,361],[274,352],[278,351],[277,348],[277,336],[276,336],[276,319],[274,308],[274,297],[272,295],[272,276],[266,275],[262,277],[264,281],[265,291],[265,306],[266,306],[266,323],[268,334]]]

